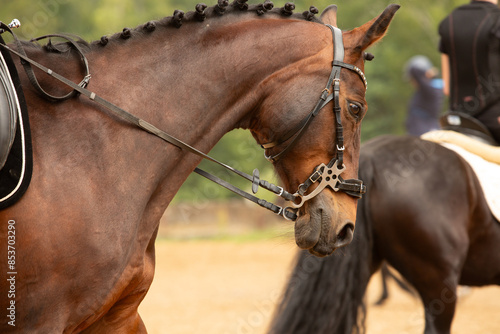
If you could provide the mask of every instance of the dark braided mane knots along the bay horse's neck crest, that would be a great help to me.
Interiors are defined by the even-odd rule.
[[[143,35],[147,35],[156,30],[157,27],[174,27],[180,28],[183,23],[189,22],[202,22],[211,17],[218,17],[222,15],[227,15],[232,13],[233,15],[238,15],[243,12],[254,12],[256,15],[261,16],[267,13],[272,13],[286,18],[302,19],[321,23],[321,21],[315,16],[318,14],[318,9],[311,6],[309,10],[302,13],[294,13],[295,4],[287,2],[281,8],[274,8],[274,4],[270,0],[265,0],[263,3],[249,5],[247,0],[234,0],[229,3],[228,0],[218,0],[217,4],[208,7],[204,3],[199,3],[195,6],[194,11],[189,11],[184,13],[181,10],[175,10],[172,16],[164,17],[158,21],[149,21],[144,24],[137,26],[136,28],[124,28],[121,32],[115,33],[111,36],[102,36],[99,40],[93,42],[86,42],[80,37],[76,36],[76,40],[79,46],[82,47],[83,51],[90,51],[96,47],[103,47],[109,43],[123,41],[129,38],[137,38]],[[40,47],[40,45],[32,42],[23,42],[24,46],[35,46]],[[66,46],[64,46],[66,45]],[[57,43],[53,44],[51,41],[42,48],[47,52],[61,53],[69,51],[71,48],[67,43]]]

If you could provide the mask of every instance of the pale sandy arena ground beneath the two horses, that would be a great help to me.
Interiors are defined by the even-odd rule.
[[[261,334],[291,270],[293,240],[158,241],[156,275],[140,314],[151,334]],[[370,334],[423,333],[420,301],[394,286],[370,306]],[[380,291],[369,286],[368,301]],[[474,288],[459,300],[452,333],[500,333],[500,287]],[[311,315],[313,316],[313,315]]]

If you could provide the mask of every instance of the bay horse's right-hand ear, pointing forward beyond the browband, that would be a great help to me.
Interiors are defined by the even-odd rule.
[[[359,28],[356,28],[355,30],[364,32],[358,42],[358,48],[365,50],[370,45],[384,37],[387,28],[389,27],[389,24],[399,7],[401,6],[396,4],[389,5],[378,17],[363,24]]]

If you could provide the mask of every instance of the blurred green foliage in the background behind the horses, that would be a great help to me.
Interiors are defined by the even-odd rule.
[[[21,20],[17,34],[24,39],[55,32],[78,34],[87,40],[99,39],[102,35],[133,28],[148,20],[172,15],[175,9],[190,11],[198,0],[16,0],[2,3],[0,20],[14,17]],[[258,3],[262,1],[249,1]],[[284,0],[275,0],[283,6]],[[320,12],[332,4],[325,0],[292,1],[297,11],[315,5]],[[343,30],[355,28],[379,15],[392,1],[388,0],[337,0],[338,25]],[[366,63],[368,78],[367,101],[369,112],[363,121],[363,136],[366,140],[380,134],[402,134],[407,113],[408,100],[412,94],[409,82],[403,79],[406,61],[417,54],[428,56],[436,66],[440,65],[437,51],[439,22],[456,6],[467,0],[400,0],[401,9],[385,39],[370,49],[375,60]],[[213,5],[216,0],[207,1]],[[263,178],[272,178],[270,164],[263,159],[258,147],[247,132],[235,131],[223,138],[212,154],[219,160],[231,164],[249,174],[259,168]],[[249,185],[238,177],[229,177],[225,171],[213,164],[203,163],[203,168],[215,171],[220,177],[240,186]],[[179,200],[210,200],[232,196],[192,175],[179,192]]]

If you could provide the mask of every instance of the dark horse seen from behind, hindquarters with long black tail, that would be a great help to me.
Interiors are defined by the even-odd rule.
[[[363,297],[385,260],[417,290],[425,334],[450,333],[457,286],[500,284],[500,225],[455,152],[413,137],[361,148],[367,194],[353,242],[327,258],[300,253],[270,333],[364,332]]]

